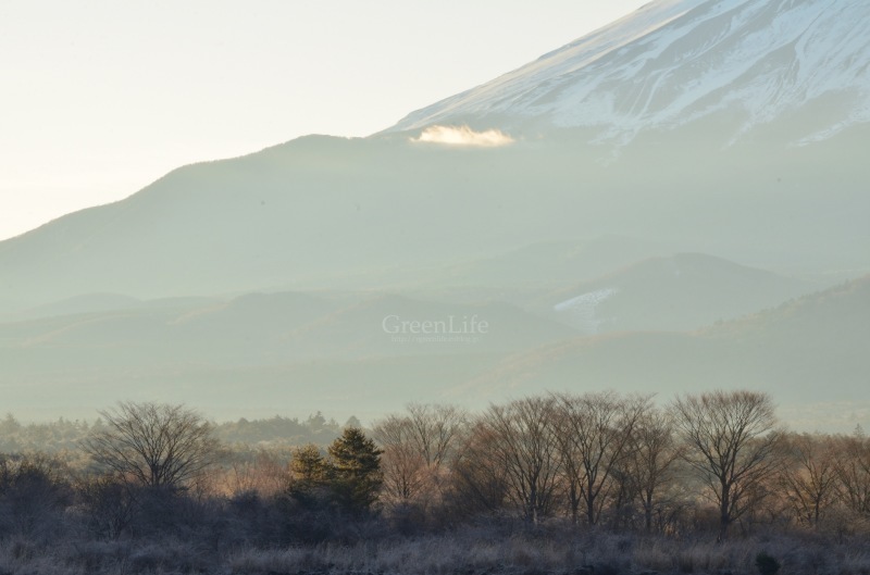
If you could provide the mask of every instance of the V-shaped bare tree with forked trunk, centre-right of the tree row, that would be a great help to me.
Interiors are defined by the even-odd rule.
[[[583,504],[586,522],[595,525],[611,476],[649,399],[623,399],[610,391],[583,396],[562,393],[556,396],[556,404],[552,423],[566,472],[571,518],[577,523]]]

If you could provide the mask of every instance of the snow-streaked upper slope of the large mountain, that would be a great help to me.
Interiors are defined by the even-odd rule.
[[[390,129],[593,127],[625,142],[717,112],[736,114],[732,137],[799,118],[798,143],[870,121],[870,2],[659,0]]]

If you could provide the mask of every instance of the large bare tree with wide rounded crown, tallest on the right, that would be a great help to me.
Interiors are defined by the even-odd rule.
[[[767,393],[712,391],[684,396],[673,403],[676,427],[686,445],[684,459],[708,487],[719,508],[719,539],[763,493],[775,470],[776,429]]]

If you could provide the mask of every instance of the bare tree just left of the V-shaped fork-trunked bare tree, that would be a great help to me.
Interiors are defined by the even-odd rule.
[[[504,465],[509,496],[532,523],[549,513],[561,471],[550,424],[554,405],[552,398],[525,398],[493,405],[482,418],[492,437],[488,449]]]

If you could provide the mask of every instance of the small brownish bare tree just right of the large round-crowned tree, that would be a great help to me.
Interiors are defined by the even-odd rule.
[[[779,487],[800,523],[818,528],[834,503],[837,487],[836,446],[830,436],[790,435]]]

